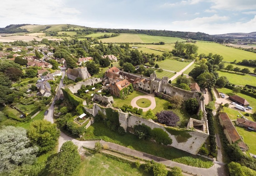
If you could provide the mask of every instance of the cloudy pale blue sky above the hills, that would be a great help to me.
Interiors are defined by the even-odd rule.
[[[76,24],[207,34],[256,31],[255,0],[0,0],[0,28]]]

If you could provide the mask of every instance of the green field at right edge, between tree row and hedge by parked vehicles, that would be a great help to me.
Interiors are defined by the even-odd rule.
[[[236,85],[253,85],[256,86],[256,77],[250,75],[236,74],[234,72],[218,71],[219,76],[226,76],[228,81]]]

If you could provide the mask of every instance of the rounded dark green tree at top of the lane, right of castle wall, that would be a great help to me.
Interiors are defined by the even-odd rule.
[[[216,83],[216,77],[213,75],[213,73],[204,72],[197,76],[196,81],[198,81],[200,87],[212,88]]]

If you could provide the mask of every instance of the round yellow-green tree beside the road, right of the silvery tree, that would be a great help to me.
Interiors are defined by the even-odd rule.
[[[40,153],[52,150],[56,146],[59,136],[60,131],[56,128],[56,124],[45,120],[32,122],[28,129],[28,138],[39,146]]]

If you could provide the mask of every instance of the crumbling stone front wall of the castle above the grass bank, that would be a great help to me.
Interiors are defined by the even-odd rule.
[[[114,109],[114,108],[113,108]],[[98,104],[94,103],[92,109],[85,108],[85,110],[92,114],[92,116],[96,116],[98,114],[98,111],[100,110],[106,115],[106,110],[104,107],[100,107]],[[131,115],[129,113],[124,113],[121,110],[118,110],[119,114],[119,122],[120,126],[124,128],[126,131],[128,127],[132,127],[137,124],[145,124],[149,126],[151,129],[153,128],[161,128],[165,132],[167,132],[163,125],[157,124],[151,120],[146,120],[144,118]],[[186,142],[178,142],[174,135],[167,132],[169,137],[172,139],[171,146],[174,148],[178,148],[180,150],[186,151],[188,153],[196,155],[199,151],[200,147],[204,144],[205,140],[209,136],[209,132],[201,132],[201,131],[191,131],[188,132],[192,137],[190,137]]]

